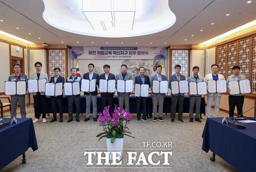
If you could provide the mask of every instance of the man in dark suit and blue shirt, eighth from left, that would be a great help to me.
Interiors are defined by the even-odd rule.
[[[140,67],[139,69],[140,75],[135,77],[134,85],[135,84],[148,84],[150,87],[150,79],[148,76],[145,75],[146,69],[145,67]],[[136,97],[137,102],[137,122],[141,121],[141,111],[140,111],[140,103],[142,102],[142,121],[148,122],[146,119],[146,105],[147,105],[148,97]]]

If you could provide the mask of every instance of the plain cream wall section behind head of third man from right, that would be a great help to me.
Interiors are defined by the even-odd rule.
[[[190,76],[194,66],[199,67],[198,75],[204,78],[204,50],[190,50]]]

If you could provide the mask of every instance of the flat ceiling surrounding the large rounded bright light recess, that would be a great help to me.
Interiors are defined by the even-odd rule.
[[[64,4],[70,2],[62,1]],[[42,0],[0,0],[0,20],[4,20],[0,22],[0,30],[34,43],[163,47],[199,44],[256,19],[256,0],[250,4],[247,0],[169,0],[169,7],[176,16],[176,23],[162,32],[130,38],[100,38],[72,34],[50,26],[42,17]],[[230,16],[226,16],[228,13]],[[204,31],[200,32],[200,29]]]

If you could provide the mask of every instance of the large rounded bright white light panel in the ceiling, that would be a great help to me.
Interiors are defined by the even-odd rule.
[[[170,28],[176,16],[168,0],[43,0],[51,26],[86,36],[124,38]],[[72,6],[73,10],[67,7]]]

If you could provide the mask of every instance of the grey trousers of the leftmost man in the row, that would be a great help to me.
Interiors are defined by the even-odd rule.
[[[26,118],[26,101],[25,101],[25,95],[12,95],[11,96],[11,118],[15,117],[16,118],[16,109],[17,109],[17,104],[19,102],[20,105],[20,116],[22,118]]]

